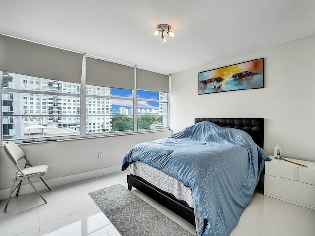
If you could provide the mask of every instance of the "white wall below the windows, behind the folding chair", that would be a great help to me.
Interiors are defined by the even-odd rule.
[[[78,173],[103,170],[113,166],[116,169],[116,166],[119,166],[117,171],[120,171],[123,157],[134,145],[165,138],[171,134],[172,131],[169,130],[93,139],[21,144],[19,147],[26,153],[33,165],[49,165],[48,174],[43,177],[47,180],[70,175],[76,176],[75,174]],[[98,152],[102,152],[102,159],[98,159]],[[14,166],[6,157],[3,148],[0,148],[0,163],[0,189],[2,190],[12,186],[11,179],[15,173]],[[38,181],[37,178],[34,179],[35,181]],[[74,179],[74,181],[76,180]],[[7,196],[3,196],[3,198],[5,197]]]

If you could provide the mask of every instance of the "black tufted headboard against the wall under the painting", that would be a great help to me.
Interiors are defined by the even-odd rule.
[[[209,121],[221,127],[244,130],[252,136],[252,139],[260,148],[264,148],[263,118],[195,118],[195,124],[202,121]]]

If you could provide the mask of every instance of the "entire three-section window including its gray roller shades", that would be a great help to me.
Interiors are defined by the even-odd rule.
[[[168,129],[168,75],[4,35],[0,39],[2,140]]]

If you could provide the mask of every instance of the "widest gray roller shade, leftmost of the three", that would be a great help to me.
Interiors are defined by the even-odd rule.
[[[81,83],[83,54],[0,35],[0,70]]]

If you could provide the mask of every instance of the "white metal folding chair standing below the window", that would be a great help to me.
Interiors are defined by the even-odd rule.
[[[14,166],[17,169],[15,175],[12,177],[13,185],[12,185],[12,188],[10,190],[10,194],[9,194],[9,197],[8,197],[8,199],[6,201],[6,205],[5,205],[5,208],[4,208],[3,212],[6,212],[6,208],[9,205],[9,201],[10,201],[11,195],[16,189],[17,189],[17,191],[16,191],[15,197],[18,196],[19,191],[20,191],[20,187],[21,187],[21,183],[22,183],[23,179],[26,179],[31,184],[33,189],[39,194],[39,196],[42,198],[42,200],[44,200],[44,202],[46,204],[47,201],[44,199],[44,197],[40,194],[40,192],[32,184],[30,178],[39,177],[41,179],[41,181],[43,181],[43,183],[49,189],[49,191],[51,191],[50,187],[47,185],[47,183],[41,177],[43,175],[46,175],[46,173],[48,171],[48,165],[32,166],[31,163],[28,161],[28,159],[26,159],[26,155],[21,150],[21,148],[19,148],[19,146],[17,146],[15,143],[13,143],[11,141],[4,141],[3,142],[3,149],[4,149],[5,154],[8,156],[10,161],[14,164]],[[18,161],[21,160],[21,159],[24,159],[26,161],[23,169],[21,169],[18,166]],[[15,182],[17,180],[20,180],[20,182],[14,188]]]

